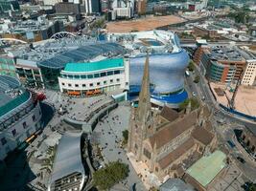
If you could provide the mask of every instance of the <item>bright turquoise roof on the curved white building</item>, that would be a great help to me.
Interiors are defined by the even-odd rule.
[[[65,72],[86,73],[124,66],[123,58],[105,59],[98,62],[67,63]]]

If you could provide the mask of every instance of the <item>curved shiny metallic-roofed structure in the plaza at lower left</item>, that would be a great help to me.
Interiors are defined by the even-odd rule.
[[[82,158],[84,142],[81,133],[65,133],[60,138],[48,191],[83,189],[88,179]]]

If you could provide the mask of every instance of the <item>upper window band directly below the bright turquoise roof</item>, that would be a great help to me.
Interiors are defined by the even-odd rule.
[[[63,78],[69,78],[69,79],[92,79],[92,78],[98,78],[98,77],[104,77],[108,75],[113,74],[122,74],[124,71],[116,70],[116,71],[108,71],[103,73],[96,73],[96,74],[60,74]]]

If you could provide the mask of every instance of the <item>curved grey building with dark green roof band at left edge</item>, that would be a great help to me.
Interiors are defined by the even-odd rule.
[[[32,94],[10,76],[0,75],[0,160],[41,128],[41,110]]]

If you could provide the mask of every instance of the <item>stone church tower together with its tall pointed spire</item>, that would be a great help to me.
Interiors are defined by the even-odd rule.
[[[137,160],[141,160],[143,140],[151,136],[152,124],[150,66],[149,54],[147,54],[139,94],[139,105],[132,109],[128,129],[128,151],[132,152]]]

